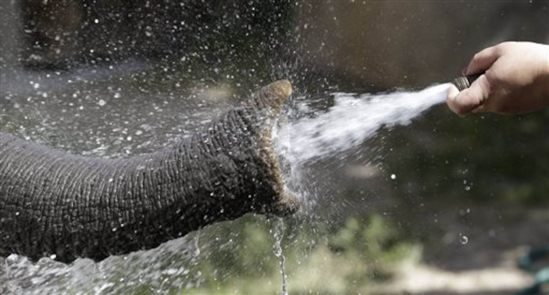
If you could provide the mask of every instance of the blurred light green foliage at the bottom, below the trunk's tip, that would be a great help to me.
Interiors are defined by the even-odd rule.
[[[287,230],[282,247],[290,293],[367,290],[389,279],[391,266],[411,249],[390,220],[381,215],[350,217],[333,232],[293,229],[294,220],[284,223]],[[200,259],[198,269],[192,270],[199,270],[204,281],[184,293],[280,292],[282,276],[273,253],[274,226],[272,220],[247,215],[206,229],[201,236],[209,241],[209,253]],[[231,242],[227,244],[228,240]]]

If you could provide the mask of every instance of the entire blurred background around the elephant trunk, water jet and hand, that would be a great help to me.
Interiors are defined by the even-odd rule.
[[[549,42],[549,1],[1,0],[0,132],[100,157],[156,151],[289,79],[311,116],[334,92],[420,90],[502,41]],[[71,265],[0,258],[0,293],[510,293],[549,244],[549,109],[438,105],[308,163],[306,205]],[[394,175],[394,177],[391,177]],[[544,262],[544,261],[542,261]],[[534,265],[533,270],[543,265]],[[547,261],[545,261],[547,265]]]

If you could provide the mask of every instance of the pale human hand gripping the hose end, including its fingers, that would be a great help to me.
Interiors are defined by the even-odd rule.
[[[471,86],[452,86],[446,103],[452,112],[517,114],[549,105],[549,45],[503,42],[475,54],[463,71],[480,75]]]

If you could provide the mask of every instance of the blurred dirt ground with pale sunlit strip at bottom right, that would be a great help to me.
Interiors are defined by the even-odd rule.
[[[446,231],[441,241],[416,249],[385,291],[502,294],[533,284],[534,276],[520,269],[517,259],[548,246],[548,209],[472,207],[457,216],[455,210],[443,209],[438,216]],[[535,267],[544,265],[547,260]]]

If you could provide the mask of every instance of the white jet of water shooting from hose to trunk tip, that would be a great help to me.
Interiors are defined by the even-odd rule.
[[[315,118],[279,129],[277,149],[292,166],[345,151],[373,136],[382,126],[407,125],[417,115],[445,101],[451,84],[417,92],[333,93],[335,104]]]

